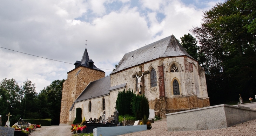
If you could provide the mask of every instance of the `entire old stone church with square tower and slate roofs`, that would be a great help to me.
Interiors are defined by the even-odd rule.
[[[126,53],[110,76],[94,65],[87,49],[74,65],[63,83],[60,125],[72,124],[76,108],[86,120],[110,117],[118,92],[129,88],[144,94],[161,118],[210,106],[204,70],[173,35]]]

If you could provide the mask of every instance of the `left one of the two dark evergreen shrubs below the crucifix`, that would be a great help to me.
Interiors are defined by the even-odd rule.
[[[119,115],[129,114],[132,115],[131,102],[135,94],[133,90],[129,88],[128,91],[119,91],[116,99],[116,110],[118,110]]]

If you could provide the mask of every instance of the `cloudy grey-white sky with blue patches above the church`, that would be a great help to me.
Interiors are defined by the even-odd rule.
[[[31,80],[40,92],[90,59],[109,75],[127,52],[199,26],[224,0],[1,0],[0,80]],[[34,57],[7,49],[45,57]],[[69,64],[72,63],[72,64]]]

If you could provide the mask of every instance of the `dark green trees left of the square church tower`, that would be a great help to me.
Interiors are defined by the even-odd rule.
[[[59,124],[62,84],[65,80],[55,80],[38,94],[35,84],[27,80],[18,85],[15,79],[3,79],[0,82],[0,115],[2,124],[7,121],[9,112],[10,124],[22,119],[52,119],[53,125]]]

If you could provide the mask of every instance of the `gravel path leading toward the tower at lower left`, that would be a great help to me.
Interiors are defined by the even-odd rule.
[[[29,136],[72,136],[71,126],[42,126]]]

